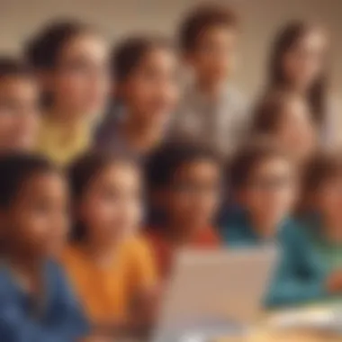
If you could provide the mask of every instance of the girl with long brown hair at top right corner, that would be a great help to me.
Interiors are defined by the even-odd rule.
[[[320,125],[324,146],[336,143],[338,123],[329,101],[327,35],[302,22],[285,26],[271,51],[268,89],[285,88],[307,99],[312,117]]]

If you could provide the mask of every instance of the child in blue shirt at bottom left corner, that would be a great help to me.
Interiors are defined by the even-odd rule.
[[[52,261],[67,233],[67,184],[49,162],[0,157],[0,336],[6,342],[75,342],[87,324]]]

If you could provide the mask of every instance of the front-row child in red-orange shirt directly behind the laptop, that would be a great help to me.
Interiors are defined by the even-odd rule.
[[[147,178],[152,209],[159,215],[147,236],[159,275],[166,278],[178,247],[220,245],[212,228],[220,199],[220,163],[206,149],[167,144],[148,160]]]

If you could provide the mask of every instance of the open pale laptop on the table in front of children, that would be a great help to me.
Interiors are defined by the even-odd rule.
[[[244,334],[262,309],[276,259],[270,246],[180,251],[152,341]]]

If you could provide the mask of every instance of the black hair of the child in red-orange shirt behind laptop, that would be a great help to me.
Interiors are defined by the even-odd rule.
[[[220,158],[210,148],[194,144],[165,143],[148,158],[145,167],[148,191],[166,188],[172,184],[180,167],[202,159],[220,164]]]

